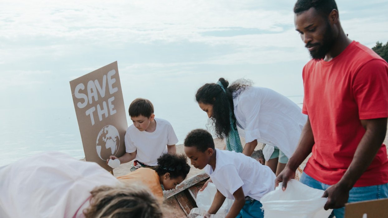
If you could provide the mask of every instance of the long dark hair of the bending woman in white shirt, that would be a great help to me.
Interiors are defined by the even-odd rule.
[[[206,83],[198,89],[195,97],[198,103],[213,105],[213,116],[210,119],[217,137],[224,138],[230,132],[230,110],[232,110],[232,119],[236,121],[233,111],[233,99],[239,96],[247,87],[252,86],[252,81],[239,79],[234,81],[230,87],[228,87],[229,82],[224,78],[220,78],[218,81],[221,82],[226,93],[220,85]]]

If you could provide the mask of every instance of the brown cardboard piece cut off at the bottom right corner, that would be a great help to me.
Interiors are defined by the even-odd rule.
[[[345,205],[345,218],[388,217],[388,199],[360,201]]]

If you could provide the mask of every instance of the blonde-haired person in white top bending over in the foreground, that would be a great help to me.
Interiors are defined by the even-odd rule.
[[[0,167],[2,218],[162,217],[145,188],[123,184],[92,162],[45,152]]]

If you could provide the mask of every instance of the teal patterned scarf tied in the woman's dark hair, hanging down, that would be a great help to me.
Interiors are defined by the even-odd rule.
[[[217,82],[217,85],[219,85],[223,92],[226,93],[225,88],[223,88],[223,85],[220,81]],[[229,135],[226,136],[226,150],[228,151],[236,151],[238,153],[242,152],[242,145],[241,140],[239,136],[239,132],[237,131],[236,126],[236,120],[233,119],[233,108],[229,104],[229,118],[230,118],[230,131]]]

